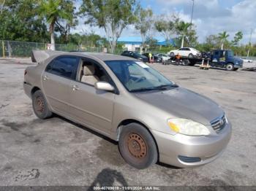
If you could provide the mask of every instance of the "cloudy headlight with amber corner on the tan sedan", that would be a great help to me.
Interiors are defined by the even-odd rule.
[[[170,119],[167,120],[168,126],[176,133],[187,136],[207,136],[210,134],[205,125],[187,119]]]

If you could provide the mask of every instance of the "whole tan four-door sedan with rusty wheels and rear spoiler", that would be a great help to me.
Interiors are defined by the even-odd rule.
[[[33,58],[39,64],[26,68],[23,88],[37,117],[56,113],[118,141],[135,168],[204,165],[230,141],[231,123],[218,104],[135,58],[57,51]]]

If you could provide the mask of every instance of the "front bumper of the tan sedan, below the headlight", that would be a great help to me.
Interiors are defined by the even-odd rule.
[[[178,133],[173,136],[156,130],[151,130],[151,133],[157,141],[161,163],[189,168],[217,159],[227,147],[231,131],[231,124],[227,123],[221,132],[210,136],[185,136]]]

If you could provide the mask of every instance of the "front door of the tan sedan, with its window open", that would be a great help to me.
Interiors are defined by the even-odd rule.
[[[80,70],[85,64],[96,67],[95,75],[99,81],[112,83],[109,75],[99,63],[89,58],[81,58]],[[94,85],[80,82],[79,73],[76,81],[71,82],[73,87],[70,102],[72,117],[90,128],[108,134],[112,127],[115,93],[97,90]]]

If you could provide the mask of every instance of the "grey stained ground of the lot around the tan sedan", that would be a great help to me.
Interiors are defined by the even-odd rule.
[[[152,64],[178,85],[217,101],[233,123],[233,136],[213,163],[138,171],[124,162],[115,142],[86,127],[61,117],[37,119],[22,87],[28,62],[0,60],[0,185],[256,185],[256,71]]]

